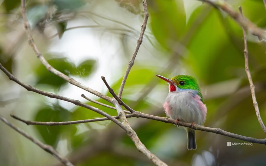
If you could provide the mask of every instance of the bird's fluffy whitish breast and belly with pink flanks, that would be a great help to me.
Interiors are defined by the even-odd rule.
[[[197,91],[181,90],[169,92],[164,103],[164,109],[171,119],[197,124],[203,124],[207,108],[200,101]]]

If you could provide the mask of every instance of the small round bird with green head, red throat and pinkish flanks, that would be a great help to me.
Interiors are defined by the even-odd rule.
[[[190,75],[177,75],[171,79],[161,75],[157,77],[167,81],[169,93],[165,99],[164,110],[167,117],[178,121],[192,123],[191,128],[182,127],[187,131],[187,149],[196,149],[195,130],[193,125],[205,122],[207,108],[203,103],[199,83]]]

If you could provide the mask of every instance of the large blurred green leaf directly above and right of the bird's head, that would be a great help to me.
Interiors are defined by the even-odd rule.
[[[244,64],[243,49],[237,49],[232,42],[219,12],[212,10],[200,24],[187,46],[190,52],[185,59],[190,69],[209,84],[234,78],[236,69]]]

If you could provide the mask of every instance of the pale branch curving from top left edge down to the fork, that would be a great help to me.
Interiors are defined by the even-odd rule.
[[[86,87],[85,85],[81,84],[80,82],[76,81],[73,78],[70,78],[69,76],[63,74],[62,72],[58,71],[57,69],[54,69],[54,67],[52,67],[47,60],[44,58],[44,56],[41,54],[41,52],[39,51],[39,49],[37,48],[36,44],[34,43],[34,40],[31,36],[31,29],[30,29],[30,25],[26,16],[26,9],[25,9],[25,0],[21,0],[21,14],[23,17],[23,22],[24,22],[24,28],[26,30],[27,36],[28,36],[28,41],[29,41],[29,45],[32,47],[32,49],[34,50],[35,54],[37,55],[37,58],[42,62],[42,64],[47,68],[47,70],[51,73],[54,73],[55,75],[63,78],[64,80],[68,81],[70,84],[75,85],[81,89],[84,89],[85,91],[88,91],[92,94],[95,94],[98,97],[101,97],[102,99],[111,102],[111,97],[106,96],[98,91],[95,91],[89,87]]]

